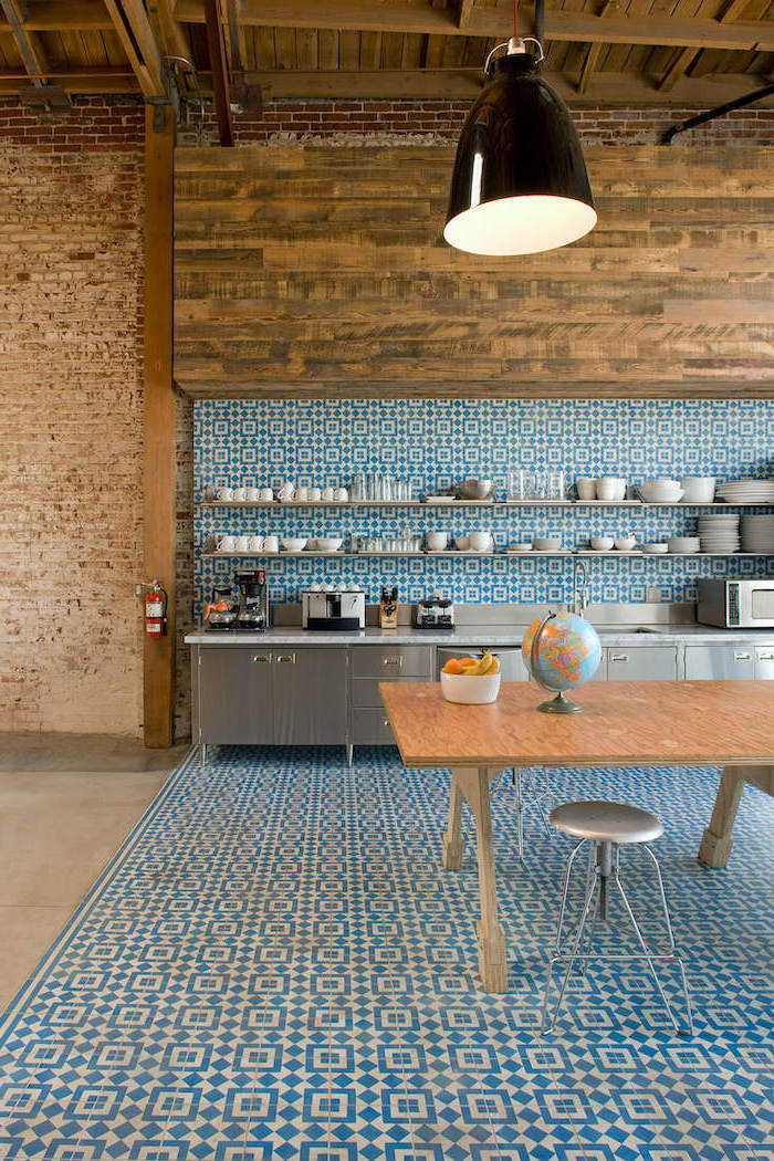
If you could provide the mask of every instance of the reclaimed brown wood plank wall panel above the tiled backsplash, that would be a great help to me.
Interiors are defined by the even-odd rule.
[[[196,396],[768,396],[765,149],[586,151],[599,224],[441,237],[448,146],[179,149],[175,378]]]

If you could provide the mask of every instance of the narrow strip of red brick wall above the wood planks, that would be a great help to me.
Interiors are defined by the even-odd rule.
[[[260,116],[236,120],[238,145],[272,140],[306,140],[318,137],[330,143],[352,135],[376,138],[422,137],[428,144],[456,140],[470,101],[274,101]],[[670,125],[686,121],[696,109],[620,108],[573,106],[572,116],[581,139],[588,145],[654,145]],[[196,134],[185,130],[182,144],[196,144]],[[681,135],[680,144],[772,145],[774,109],[740,109]],[[205,120],[204,143],[217,142],[214,117]]]

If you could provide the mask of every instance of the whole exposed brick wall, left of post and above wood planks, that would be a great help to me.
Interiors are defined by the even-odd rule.
[[[469,102],[279,101],[239,144],[453,140]],[[648,144],[689,109],[577,108],[589,144]],[[207,139],[215,139],[211,117]],[[181,142],[195,140],[191,131]],[[773,144],[748,109],[681,143]],[[138,734],[142,622],[142,181],[136,99],[41,114],[0,100],[3,455],[0,728]],[[191,597],[191,405],[178,410],[179,630]],[[176,730],[190,722],[179,652]]]

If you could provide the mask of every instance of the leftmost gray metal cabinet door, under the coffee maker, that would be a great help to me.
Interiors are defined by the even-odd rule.
[[[197,655],[196,741],[214,745],[270,744],[274,741],[270,651],[212,646],[200,649]]]

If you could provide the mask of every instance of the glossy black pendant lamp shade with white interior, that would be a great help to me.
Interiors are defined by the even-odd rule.
[[[472,254],[535,254],[595,225],[580,140],[523,51],[494,60],[463,125],[443,237]]]

